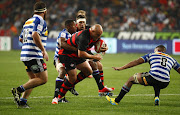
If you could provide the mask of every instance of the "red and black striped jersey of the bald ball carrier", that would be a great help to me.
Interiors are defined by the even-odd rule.
[[[93,41],[93,39],[91,38],[89,29],[75,33],[66,42],[67,44],[76,47],[80,51],[88,51],[96,43],[96,41]],[[66,49],[61,49],[59,50],[58,54],[78,58],[77,51],[75,52]]]

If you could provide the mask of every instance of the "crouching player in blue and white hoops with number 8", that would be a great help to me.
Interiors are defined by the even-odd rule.
[[[134,74],[123,85],[119,95],[115,99],[109,96],[106,96],[106,99],[112,105],[118,105],[125,94],[130,91],[133,84],[141,84],[144,86],[153,86],[155,91],[154,104],[159,105],[160,90],[166,88],[170,82],[170,70],[173,68],[180,74],[180,64],[165,52],[166,48],[163,45],[159,45],[155,48],[154,53],[146,54],[122,67],[113,67],[115,70],[120,71],[148,62],[150,64],[150,71]]]

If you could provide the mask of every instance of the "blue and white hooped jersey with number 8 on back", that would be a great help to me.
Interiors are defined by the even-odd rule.
[[[170,70],[174,68],[176,71],[180,68],[180,64],[168,54],[162,52],[149,53],[141,57],[144,62],[149,62],[149,74],[156,80],[161,82],[170,81]]]

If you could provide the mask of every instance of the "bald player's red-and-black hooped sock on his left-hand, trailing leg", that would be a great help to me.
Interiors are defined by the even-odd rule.
[[[63,84],[61,85],[61,88],[59,90],[59,95],[58,98],[62,98],[66,95],[67,91],[72,88],[74,85],[70,83],[68,80],[64,81]]]

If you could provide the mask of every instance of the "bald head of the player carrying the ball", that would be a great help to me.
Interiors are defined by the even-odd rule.
[[[103,33],[103,28],[100,24],[95,24],[90,28],[90,35],[93,40],[98,40]]]

